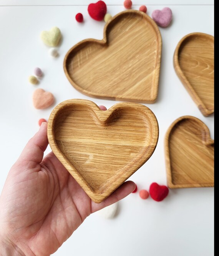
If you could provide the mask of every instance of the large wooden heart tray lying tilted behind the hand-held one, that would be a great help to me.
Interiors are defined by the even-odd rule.
[[[91,97],[153,103],[158,95],[161,34],[145,13],[127,10],[106,23],[103,40],[86,39],[65,56],[70,83]]]

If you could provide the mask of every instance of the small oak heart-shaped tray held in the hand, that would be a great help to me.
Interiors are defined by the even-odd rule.
[[[97,203],[151,157],[158,134],[153,112],[137,103],[103,111],[90,100],[66,100],[48,120],[52,151]]]

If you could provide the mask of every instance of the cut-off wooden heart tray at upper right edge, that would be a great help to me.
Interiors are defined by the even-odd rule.
[[[214,37],[183,37],[174,52],[174,68],[202,114],[214,113]]]

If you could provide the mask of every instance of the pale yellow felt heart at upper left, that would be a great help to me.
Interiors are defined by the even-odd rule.
[[[42,31],[40,38],[44,44],[56,47],[61,38],[61,31],[58,27],[52,27],[50,31]]]

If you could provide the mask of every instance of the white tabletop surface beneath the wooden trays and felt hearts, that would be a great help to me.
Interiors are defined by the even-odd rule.
[[[71,98],[93,100],[107,108],[116,103],[81,94],[70,85],[63,71],[65,53],[74,44],[85,38],[103,37],[105,23],[89,17],[90,2],[0,0],[0,191],[10,167],[38,130],[38,119],[48,119],[55,104]],[[111,15],[124,10],[123,0],[108,0],[106,4]],[[173,11],[173,23],[160,28],[163,51],[158,100],[148,104],[159,122],[158,146],[149,161],[131,177],[139,189],[149,189],[152,182],[166,184],[164,135],[175,119],[182,115],[198,117],[209,127],[214,139],[214,115],[204,117],[199,112],[173,68],[174,49],[184,35],[213,35],[214,6],[212,0],[133,0],[133,4],[133,9],[146,4],[149,16],[163,7]],[[84,15],[83,24],[75,21],[78,12]],[[57,59],[48,55],[48,47],[39,37],[42,30],[53,26],[59,27],[63,35]],[[37,86],[28,84],[28,76],[35,67],[45,74]],[[51,91],[55,104],[46,110],[34,109],[32,93],[36,88]],[[119,202],[114,219],[105,220],[98,214],[89,216],[53,255],[212,256],[213,218],[213,188],[172,189],[163,202],[142,200],[135,193]]]

